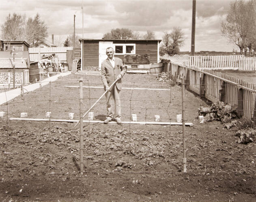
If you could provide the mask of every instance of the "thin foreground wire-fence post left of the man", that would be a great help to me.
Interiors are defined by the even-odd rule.
[[[82,112],[82,107],[83,107],[83,78],[81,77],[79,80],[80,84],[80,103],[79,103],[79,108],[80,108],[80,172],[83,174],[84,171],[84,137],[83,137],[83,112]]]

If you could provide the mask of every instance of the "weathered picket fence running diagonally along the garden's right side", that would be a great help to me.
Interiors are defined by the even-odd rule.
[[[165,59],[169,59],[165,58]],[[173,59],[173,58],[170,58]],[[217,102],[223,101],[232,106],[237,106],[239,117],[256,120],[256,85],[228,76],[215,70],[182,65],[187,61],[163,61],[163,71],[179,83],[185,78],[186,88],[197,93],[200,97]],[[189,63],[190,64],[190,63]]]

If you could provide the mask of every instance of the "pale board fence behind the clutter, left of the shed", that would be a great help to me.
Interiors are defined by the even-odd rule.
[[[73,50],[73,47],[28,48],[30,62],[39,61],[39,55],[55,53],[61,62],[67,63],[67,50]]]

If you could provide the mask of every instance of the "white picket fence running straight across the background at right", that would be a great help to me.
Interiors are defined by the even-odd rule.
[[[256,71],[256,58],[243,55],[163,55],[161,59],[170,60],[174,64],[186,67],[199,67],[215,70]]]

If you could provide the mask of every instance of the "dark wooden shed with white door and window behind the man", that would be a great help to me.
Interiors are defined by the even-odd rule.
[[[82,70],[101,67],[101,62],[108,56],[106,48],[114,48],[115,55],[124,61],[125,55],[148,55],[149,63],[159,61],[159,43],[161,40],[135,39],[80,39]]]

